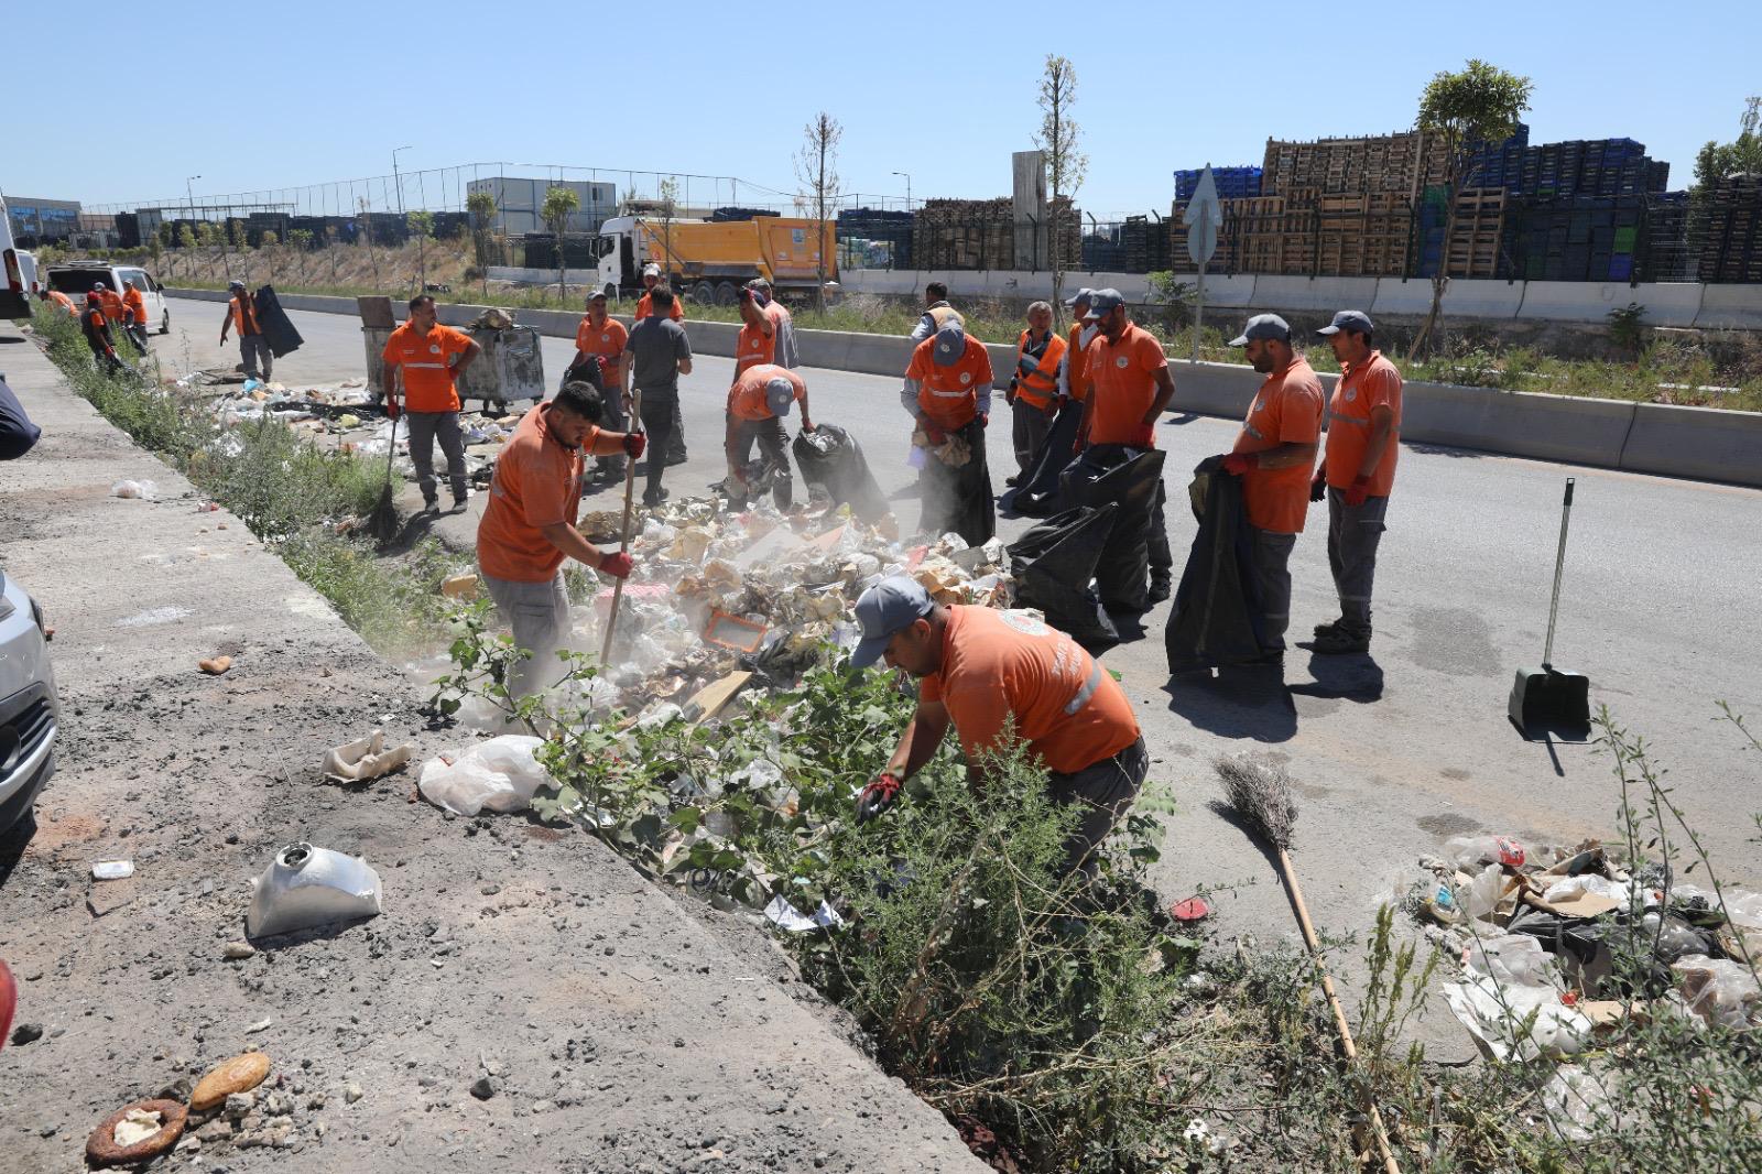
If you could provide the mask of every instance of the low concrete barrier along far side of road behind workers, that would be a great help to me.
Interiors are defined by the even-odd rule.
[[[1535,286],[1536,282],[1531,282]],[[213,289],[167,289],[174,298],[224,301]],[[354,314],[354,298],[285,294],[289,310]],[[440,321],[460,326],[485,307],[442,305]],[[393,301],[402,316],[402,305]],[[629,321],[627,316],[617,316]],[[520,321],[553,338],[573,338],[581,321],[566,310],[520,310]],[[733,323],[685,319],[694,351],[731,358],[740,328]],[[867,335],[839,330],[798,330],[803,367],[902,375],[911,361],[911,342],[900,335]],[[1004,383],[1015,360],[1013,344],[987,344],[992,372]],[[1237,420],[1247,409],[1260,375],[1230,363],[1175,361],[1173,411]],[[1322,383],[1332,390],[1334,375]],[[1649,472],[1702,481],[1762,487],[1762,414],[1718,407],[1677,407],[1593,400],[1496,388],[1462,388],[1445,383],[1408,383],[1406,420],[1401,439],[1413,444],[1445,444],[1507,457],[1561,460],[1628,472]]]

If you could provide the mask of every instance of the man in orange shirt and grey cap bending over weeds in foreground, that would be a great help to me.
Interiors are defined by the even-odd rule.
[[[985,786],[987,754],[1006,730],[1048,772],[1059,804],[1082,811],[1064,841],[1066,869],[1096,871],[1094,851],[1144,786],[1149,756],[1124,689],[1068,635],[1027,612],[944,606],[904,575],[885,578],[856,601],[863,638],[855,668],[877,659],[918,679],[918,710],[883,770],[856,797],[865,823],[955,728],[967,779]]]

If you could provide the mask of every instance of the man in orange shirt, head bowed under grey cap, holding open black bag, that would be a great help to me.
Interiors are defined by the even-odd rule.
[[[990,354],[960,323],[946,323],[913,349],[899,398],[925,441],[920,446],[923,513],[918,522],[923,534],[937,538],[953,531],[967,546],[978,546],[997,532],[985,465],[990,393]],[[916,442],[916,434],[913,439]],[[953,439],[962,444],[951,444]]]

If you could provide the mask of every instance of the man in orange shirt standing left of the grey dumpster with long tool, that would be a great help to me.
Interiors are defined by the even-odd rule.
[[[411,298],[411,316],[386,338],[386,414],[398,418],[396,375],[403,372],[403,409],[409,420],[411,464],[423,490],[423,508],[439,509],[435,487],[435,441],[446,455],[448,479],[453,483],[453,509],[463,509],[469,495],[465,481],[465,434],[458,427],[458,377],[465,374],[483,347],[462,330],[435,321],[432,294]]]

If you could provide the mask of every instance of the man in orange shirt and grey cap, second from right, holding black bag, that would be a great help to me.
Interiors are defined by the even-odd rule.
[[[1292,624],[1292,548],[1309,513],[1309,472],[1322,441],[1322,381],[1292,349],[1292,328],[1277,314],[1247,319],[1232,347],[1247,347],[1249,365],[1267,379],[1247,405],[1232,450],[1207,464],[1242,478],[1242,509],[1253,534],[1253,591],[1262,617],[1262,663],[1284,665]]]

